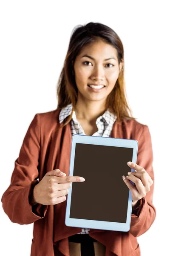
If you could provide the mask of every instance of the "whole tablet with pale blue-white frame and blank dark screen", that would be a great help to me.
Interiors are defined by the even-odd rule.
[[[135,171],[127,162],[136,163],[137,150],[137,140],[72,136],[69,175],[85,181],[71,183],[66,226],[130,230],[132,198],[122,175]]]

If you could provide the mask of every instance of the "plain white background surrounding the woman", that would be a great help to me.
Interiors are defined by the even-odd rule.
[[[0,197],[36,113],[56,109],[56,84],[74,26],[100,22],[125,50],[127,98],[153,145],[156,219],[138,237],[142,256],[168,255],[169,1],[0,1]],[[30,256],[33,224],[12,223],[0,206],[0,255]]]

